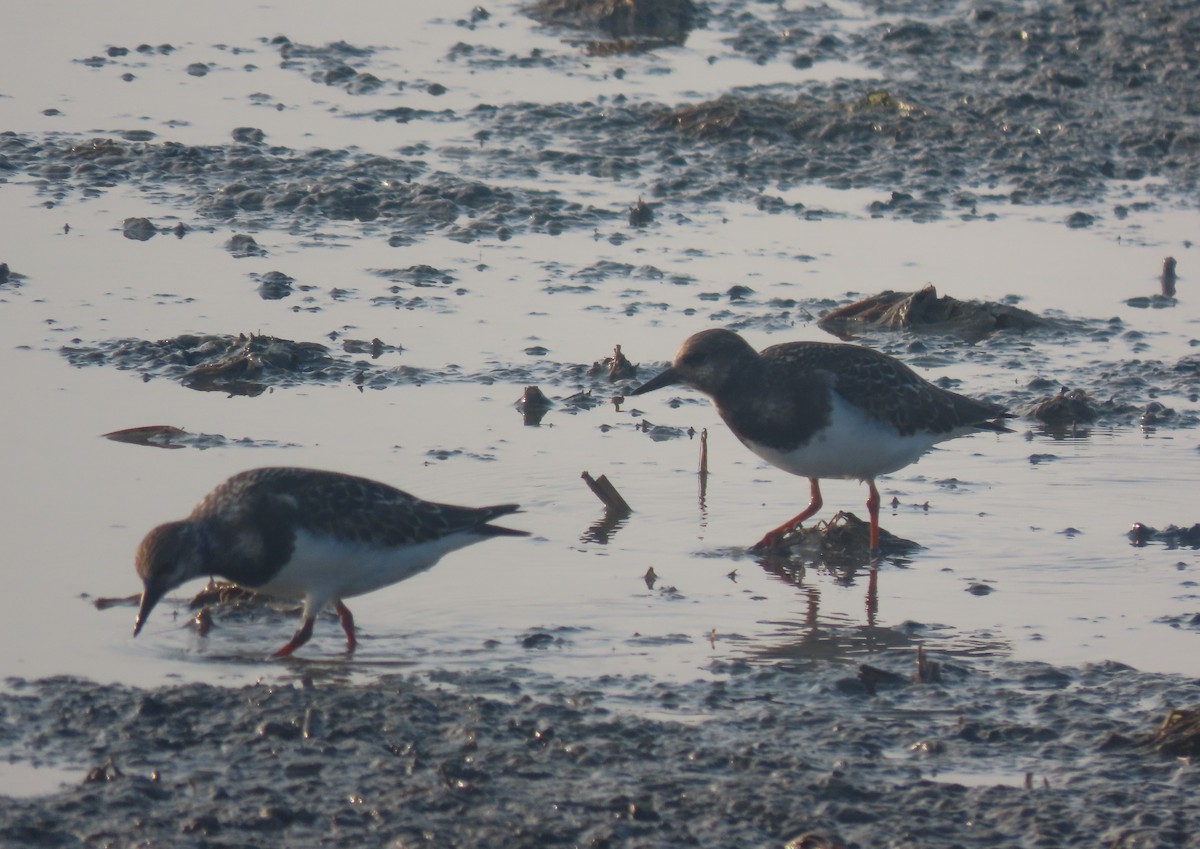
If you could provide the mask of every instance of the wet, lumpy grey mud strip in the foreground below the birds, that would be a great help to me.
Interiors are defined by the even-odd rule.
[[[911,655],[685,685],[527,668],[138,690],[10,679],[0,842],[325,847],[1196,847],[1200,684]],[[797,839],[802,838],[804,839]],[[806,842],[805,842],[806,841]]]

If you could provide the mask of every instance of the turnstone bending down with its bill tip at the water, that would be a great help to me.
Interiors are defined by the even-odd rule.
[[[244,471],[209,493],[186,519],[146,534],[137,553],[145,589],[133,636],[163,595],[192,578],[220,576],[256,592],[304,602],[304,624],[277,657],[308,642],[317,614],[330,602],[353,651],[354,616],[343,598],[412,578],[463,546],[494,536],[529,536],[488,524],[517,510],[515,504],[433,504],[334,471]]]

